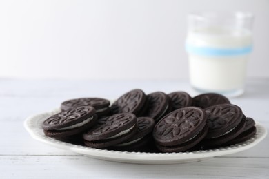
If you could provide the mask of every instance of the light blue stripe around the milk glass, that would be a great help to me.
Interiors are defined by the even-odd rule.
[[[208,48],[190,45],[189,43],[186,43],[186,51],[190,54],[204,56],[236,56],[250,54],[250,52],[252,52],[252,45],[243,48]]]

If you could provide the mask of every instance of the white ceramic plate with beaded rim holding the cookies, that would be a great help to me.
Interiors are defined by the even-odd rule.
[[[239,151],[244,151],[250,147],[254,147],[257,143],[261,142],[266,137],[267,131],[265,127],[257,123],[257,134],[244,143],[237,145],[231,145],[228,147],[222,147],[218,149],[210,149],[204,151],[193,152],[179,152],[179,153],[146,153],[146,152],[126,152],[126,151],[108,151],[106,149],[93,149],[81,145],[73,145],[70,143],[61,142],[54,138],[47,137],[43,134],[41,123],[52,114],[59,112],[59,109],[55,109],[52,112],[45,112],[28,117],[24,122],[24,127],[30,133],[30,135],[53,147],[60,149],[66,149],[68,151],[76,152],[77,154],[83,154],[91,158],[99,158],[101,160],[110,160],[114,162],[129,162],[129,163],[147,163],[147,164],[168,164],[168,163],[182,163],[182,162],[194,162],[205,160],[206,158],[212,158],[215,156],[223,156],[227,154],[234,154]]]

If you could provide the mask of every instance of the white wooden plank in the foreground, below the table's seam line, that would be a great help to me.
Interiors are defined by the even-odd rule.
[[[134,165],[83,156],[0,156],[1,178],[268,178],[269,158]]]

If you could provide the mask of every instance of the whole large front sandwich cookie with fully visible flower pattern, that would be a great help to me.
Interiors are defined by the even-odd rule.
[[[164,116],[153,130],[157,148],[162,152],[186,151],[207,134],[206,112],[199,107],[183,107]]]

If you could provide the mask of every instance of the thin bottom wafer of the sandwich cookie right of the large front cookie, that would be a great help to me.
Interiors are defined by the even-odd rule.
[[[242,120],[237,125],[237,127],[235,127],[234,129],[228,131],[226,134],[223,134],[217,138],[209,138],[209,139],[206,138],[203,144],[208,147],[223,146],[223,144],[226,144],[230,140],[233,140],[234,138],[239,136],[242,133],[245,125],[246,125],[246,117],[243,116]]]

